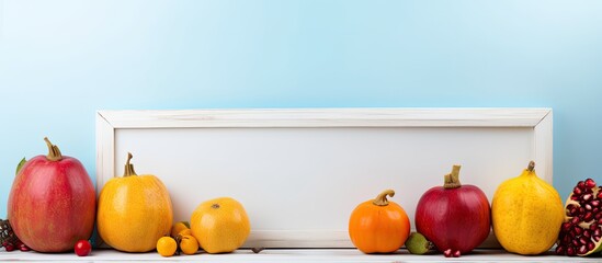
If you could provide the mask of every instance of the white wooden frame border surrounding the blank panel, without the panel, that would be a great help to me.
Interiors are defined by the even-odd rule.
[[[115,171],[115,133],[156,128],[264,127],[521,127],[533,128],[537,173],[553,179],[550,108],[274,108],[188,111],[99,111],[96,187]],[[518,171],[520,172],[520,171]],[[348,248],[347,231],[261,231],[246,247]],[[487,247],[487,245],[486,245]]]

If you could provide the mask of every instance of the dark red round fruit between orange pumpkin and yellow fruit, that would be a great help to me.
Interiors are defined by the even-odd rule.
[[[445,175],[445,184],[427,191],[416,209],[417,231],[445,256],[470,252],[489,236],[489,201],[475,185],[459,183],[459,165]]]

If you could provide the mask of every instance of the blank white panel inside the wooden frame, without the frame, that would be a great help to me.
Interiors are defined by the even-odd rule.
[[[175,220],[203,201],[240,201],[258,230],[345,231],[353,208],[394,188],[413,227],[418,199],[461,182],[491,199],[533,159],[533,128],[155,128],[115,130],[115,173],[127,152],[138,174],[170,191]]]

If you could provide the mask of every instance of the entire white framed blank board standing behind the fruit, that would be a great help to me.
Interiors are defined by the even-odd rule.
[[[170,190],[174,219],[202,201],[247,208],[246,247],[349,248],[359,203],[394,188],[413,211],[453,164],[491,199],[530,160],[552,182],[549,108],[311,108],[100,111],[98,186],[121,176],[128,151],[139,174]]]

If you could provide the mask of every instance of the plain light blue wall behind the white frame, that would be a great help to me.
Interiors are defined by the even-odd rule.
[[[96,110],[552,107],[554,185],[602,182],[602,1],[0,0],[0,218]],[[518,171],[520,172],[520,171]]]

